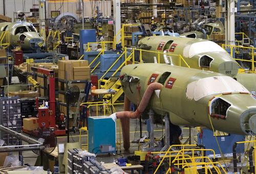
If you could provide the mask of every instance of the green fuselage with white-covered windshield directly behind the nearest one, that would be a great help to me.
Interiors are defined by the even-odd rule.
[[[238,75],[237,61],[215,42],[187,37],[150,36],[140,39],[137,48],[161,53],[165,51],[176,66],[187,67],[187,63],[193,69],[225,74],[237,78],[250,92],[256,91],[256,74]],[[181,55],[186,63],[177,55]],[[142,51],[143,62],[152,63],[154,57],[158,58],[158,54]],[[160,63],[165,63],[163,54],[160,54]]]

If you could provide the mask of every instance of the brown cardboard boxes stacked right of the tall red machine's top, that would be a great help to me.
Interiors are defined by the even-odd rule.
[[[58,77],[64,80],[90,79],[90,67],[87,60],[59,60]]]

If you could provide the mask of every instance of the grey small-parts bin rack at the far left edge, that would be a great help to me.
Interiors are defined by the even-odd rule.
[[[15,132],[22,132],[22,116],[19,97],[2,97],[0,98],[0,122],[3,126],[8,127]],[[1,132],[1,139],[7,145],[21,144],[16,137]]]

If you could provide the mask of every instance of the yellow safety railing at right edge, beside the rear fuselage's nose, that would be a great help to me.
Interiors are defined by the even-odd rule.
[[[251,60],[246,60],[246,59],[238,59],[238,58],[234,58],[234,60],[239,60],[239,61],[247,61],[247,62],[251,62],[251,71],[255,72],[254,70],[254,51],[256,50],[256,48],[254,47],[243,47],[243,46],[234,46],[234,45],[225,45],[222,44],[222,48],[223,49],[228,49],[230,48],[230,56],[233,57],[233,48],[241,48],[241,49],[251,49]]]

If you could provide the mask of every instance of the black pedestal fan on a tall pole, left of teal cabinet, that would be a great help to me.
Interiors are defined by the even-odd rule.
[[[69,106],[77,102],[80,95],[79,88],[74,85],[66,92],[66,101],[67,101],[67,127],[68,127],[68,143],[69,143]]]

